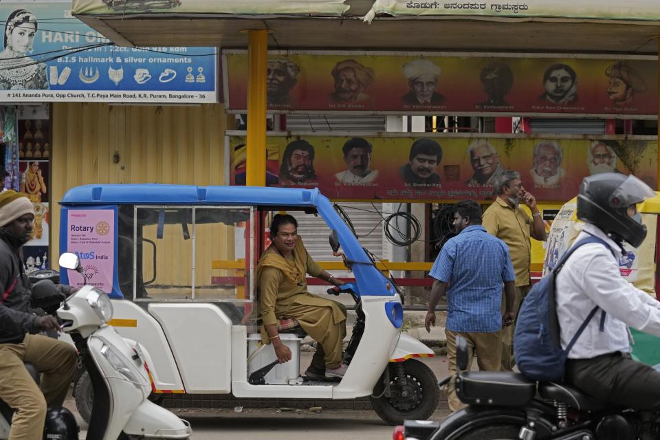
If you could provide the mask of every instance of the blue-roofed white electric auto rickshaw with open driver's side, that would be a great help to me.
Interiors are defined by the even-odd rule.
[[[341,249],[338,263],[352,272],[349,283],[330,289],[355,303],[349,367],[339,382],[300,375],[299,327],[280,331],[289,362],[278,364],[272,346],[261,344],[256,265],[267,221],[282,211],[324,222],[328,256]],[[427,419],[439,388],[416,358],[434,353],[401,333],[401,293],[344,219],[318,189],[88,185],[61,202],[60,249],[78,255],[87,284],[112,298],[118,332],[146,347],[155,393],[371,396],[387,423]],[[83,284],[72,271],[61,279]]]

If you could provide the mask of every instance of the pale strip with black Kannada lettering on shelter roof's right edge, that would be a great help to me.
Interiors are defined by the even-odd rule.
[[[365,20],[375,14],[394,16],[461,15],[482,17],[549,17],[555,19],[660,20],[657,0],[523,0],[409,1],[375,0]]]

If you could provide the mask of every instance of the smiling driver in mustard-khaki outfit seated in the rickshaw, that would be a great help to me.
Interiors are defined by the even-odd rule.
[[[314,338],[316,353],[305,375],[314,380],[342,377],[342,342],[346,336],[346,307],[307,292],[306,274],[333,285],[342,285],[322,270],[307,253],[298,236],[298,222],[289,214],[276,214],[270,225],[272,244],[257,265],[259,314],[263,322],[261,340],[273,344],[279,362],[291,360],[291,351],[278,335],[281,319],[295,318]]]

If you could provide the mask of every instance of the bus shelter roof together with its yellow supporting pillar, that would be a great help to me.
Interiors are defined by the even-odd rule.
[[[657,0],[73,0],[72,12],[120,46],[248,48],[252,185],[265,184],[267,50],[657,57],[660,41]]]

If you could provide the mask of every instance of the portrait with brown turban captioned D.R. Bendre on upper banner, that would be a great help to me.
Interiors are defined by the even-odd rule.
[[[335,89],[330,98],[335,102],[350,104],[369,99],[364,90],[373,83],[373,69],[364,67],[355,60],[340,61],[331,72],[335,80]]]

